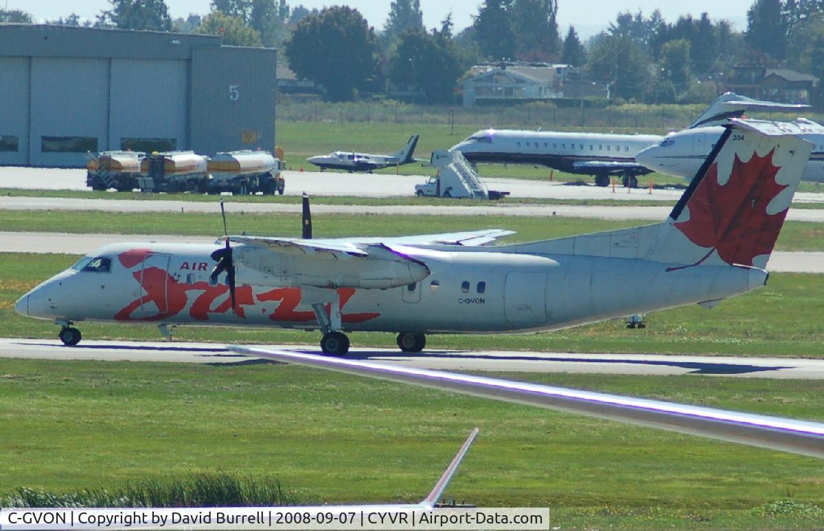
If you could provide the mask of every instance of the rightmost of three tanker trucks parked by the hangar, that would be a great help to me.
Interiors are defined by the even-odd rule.
[[[269,151],[227,151],[208,161],[208,192],[283,195],[280,160]]]

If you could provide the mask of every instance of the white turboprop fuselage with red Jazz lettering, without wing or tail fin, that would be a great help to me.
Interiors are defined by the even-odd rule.
[[[243,245],[235,247],[242,253]],[[89,258],[108,271],[68,269],[21,298],[22,314],[57,322],[125,322],[318,329],[300,280],[245,284],[236,310],[223,275],[209,283],[212,245],[109,245]],[[668,270],[643,259],[420,249],[431,273],[388,289],[337,288],[344,331],[514,333],[565,328],[717,300],[764,284],[757,268]],[[82,266],[82,262],[80,263]],[[81,270],[78,270],[81,269]]]

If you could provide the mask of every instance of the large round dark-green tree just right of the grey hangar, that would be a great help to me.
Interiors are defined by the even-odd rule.
[[[375,30],[351,7],[328,7],[304,17],[283,47],[289,68],[321,83],[330,100],[351,100],[377,70]]]

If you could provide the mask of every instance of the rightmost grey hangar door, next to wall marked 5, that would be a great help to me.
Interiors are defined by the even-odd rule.
[[[110,149],[189,149],[187,62],[112,59]]]

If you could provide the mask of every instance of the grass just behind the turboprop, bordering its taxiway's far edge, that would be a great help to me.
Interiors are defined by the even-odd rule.
[[[16,314],[23,293],[68,268],[77,257],[54,254],[0,254],[0,337],[55,338],[49,321]],[[725,300],[713,310],[690,306],[648,315],[648,328],[629,330],[621,321],[526,335],[436,335],[428,347],[547,352],[652,352],[737,356],[824,356],[821,293],[824,276],[773,274],[770,283]],[[79,324],[87,339],[158,340],[152,325]],[[353,346],[395,348],[390,333],[353,333]],[[175,331],[177,340],[316,344],[320,334],[265,328],[194,328]]]

